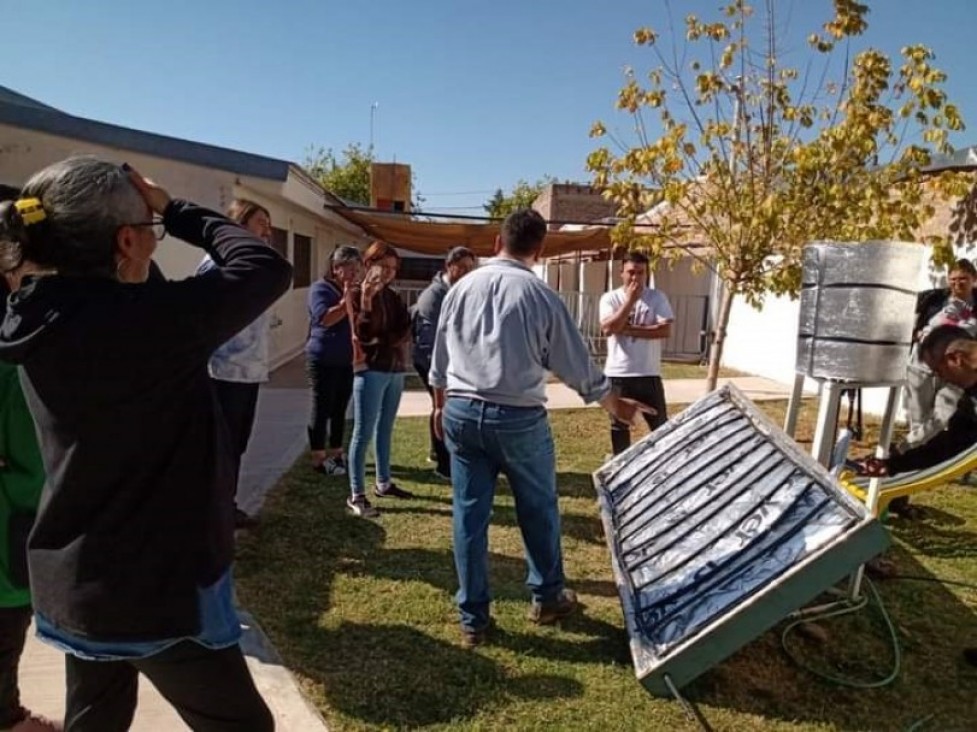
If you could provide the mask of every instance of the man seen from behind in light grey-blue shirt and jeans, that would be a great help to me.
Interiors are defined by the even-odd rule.
[[[611,391],[566,306],[533,273],[545,236],[546,222],[535,211],[510,214],[496,241],[498,256],[451,288],[438,321],[429,379],[435,429],[451,453],[466,647],[482,643],[492,624],[488,525],[499,473],[512,488],[525,544],[530,621],[555,623],[577,607],[563,573],[547,372],[622,421],[650,409]]]

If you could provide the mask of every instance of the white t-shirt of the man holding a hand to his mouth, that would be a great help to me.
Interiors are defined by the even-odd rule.
[[[623,287],[600,298],[601,322],[616,313],[627,301]],[[672,306],[663,292],[645,287],[628,318],[628,325],[656,325],[675,319]],[[661,376],[661,338],[635,338],[627,335],[607,336],[607,376]]]

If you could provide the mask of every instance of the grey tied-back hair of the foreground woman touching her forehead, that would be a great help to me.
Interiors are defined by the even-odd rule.
[[[0,204],[0,270],[25,260],[65,275],[115,272],[120,226],[149,219],[145,201],[115,163],[74,157],[35,173],[21,198],[37,198],[45,218],[24,224],[13,203]]]

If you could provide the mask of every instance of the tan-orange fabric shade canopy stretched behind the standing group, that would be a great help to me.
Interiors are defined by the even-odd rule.
[[[419,254],[443,256],[451,247],[466,246],[480,257],[495,254],[495,237],[500,223],[421,221],[403,214],[364,211],[343,206],[331,210],[359,226],[368,236],[380,239],[400,249]],[[610,228],[595,226],[581,231],[550,231],[546,234],[544,256],[555,257],[570,252],[608,250]]]

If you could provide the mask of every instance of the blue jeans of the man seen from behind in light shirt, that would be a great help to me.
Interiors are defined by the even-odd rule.
[[[443,414],[454,487],[454,552],[461,624],[480,630],[489,622],[488,527],[495,481],[509,479],[522,532],[534,600],[549,602],[563,590],[563,553],[556,494],[556,456],[543,407],[451,397]]]

